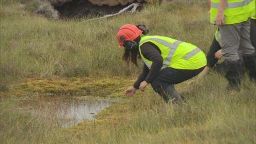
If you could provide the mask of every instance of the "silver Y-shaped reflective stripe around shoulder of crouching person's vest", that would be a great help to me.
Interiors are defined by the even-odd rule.
[[[165,67],[167,67],[170,63],[171,63],[171,58],[173,57],[173,54],[175,53],[175,50],[177,49],[178,45],[180,43],[183,43],[183,41],[175,41],[173,44],[168,43],[167,41],[163,41],[162,39],[157,39],[157,38],[149,38],[149,39],[145,39],[143,41],[141,41],[141,43],[145,42],[145,41],[157,41],[157,43],[161,43],[162,45],[165,45],[165,47],[169,47],[170,51],[165,59],[165,61],[163,61],[163,67],[161,69],[164,69]],[[144,59],[143,59],[144,61]],[[147,61],[144,61],[145,64],[147,65],[147,67],[151,67],[151,64],[147,63]]]

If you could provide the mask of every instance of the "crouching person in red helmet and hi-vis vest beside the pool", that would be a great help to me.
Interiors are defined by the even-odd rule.
[[[191,43],[158,35],[147,36],[147,33],[145,25],[131,24],[123,25],[117,32],[119,47],[125,47],[123,60],[137,65],[137,57],[140,57],[145,63],[137,81],[125,95],[131,96],[137,89],[144,91],[150,83],[166,102],[181,101],[174,85],[203,71],[205,54]]]

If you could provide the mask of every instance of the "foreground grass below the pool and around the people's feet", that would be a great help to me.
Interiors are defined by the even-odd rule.
[[[46,127],[40,117],[16,110],[27,97],[3,99],[1,137],[3,143],[255,143],[256,85],[245,79],[239,92],[225,85],[212,73],[192,85],[181,83],[177,89],[185,99],[178,104],[164,103],[148,87],[101,111],[95,122],[69,129],[55,121]]]

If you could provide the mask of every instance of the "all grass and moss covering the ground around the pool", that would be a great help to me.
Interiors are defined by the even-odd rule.
[[[256,85],[241,91],[209,73],[177,85],[181,103],[164,103],[150,86],[69,129],[18,109],[37,95],[123,97],[140,67],[121,61],[116,32],[143,23],[150,35],[194,43],[207,52],[215,27],[207,2],[147,5],[101,21],[51,20],[0,1],[0,143],[256,143]],[[131,78],[132,77],[132,78]],[[4,96],[3,96],[4,95]]]

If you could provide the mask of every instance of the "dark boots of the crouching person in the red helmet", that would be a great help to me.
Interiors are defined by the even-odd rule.
[[[174,88],[174,85],[169,85],[165,89],[161,89],[159,91],[159,95],[165,100],[165,102],[169,103],[169,101],[173,100],[175,102],[181,101],[181,96]]]

